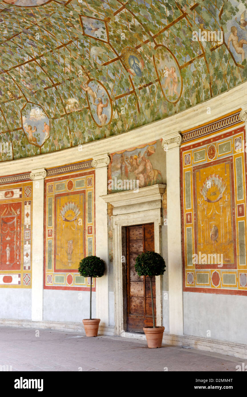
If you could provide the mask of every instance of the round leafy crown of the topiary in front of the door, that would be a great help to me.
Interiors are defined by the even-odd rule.
[[[165,267],[164,258],[157,252],[143,252],[135,260],[135,271],[138,276],[160,276],[166,271]]]

